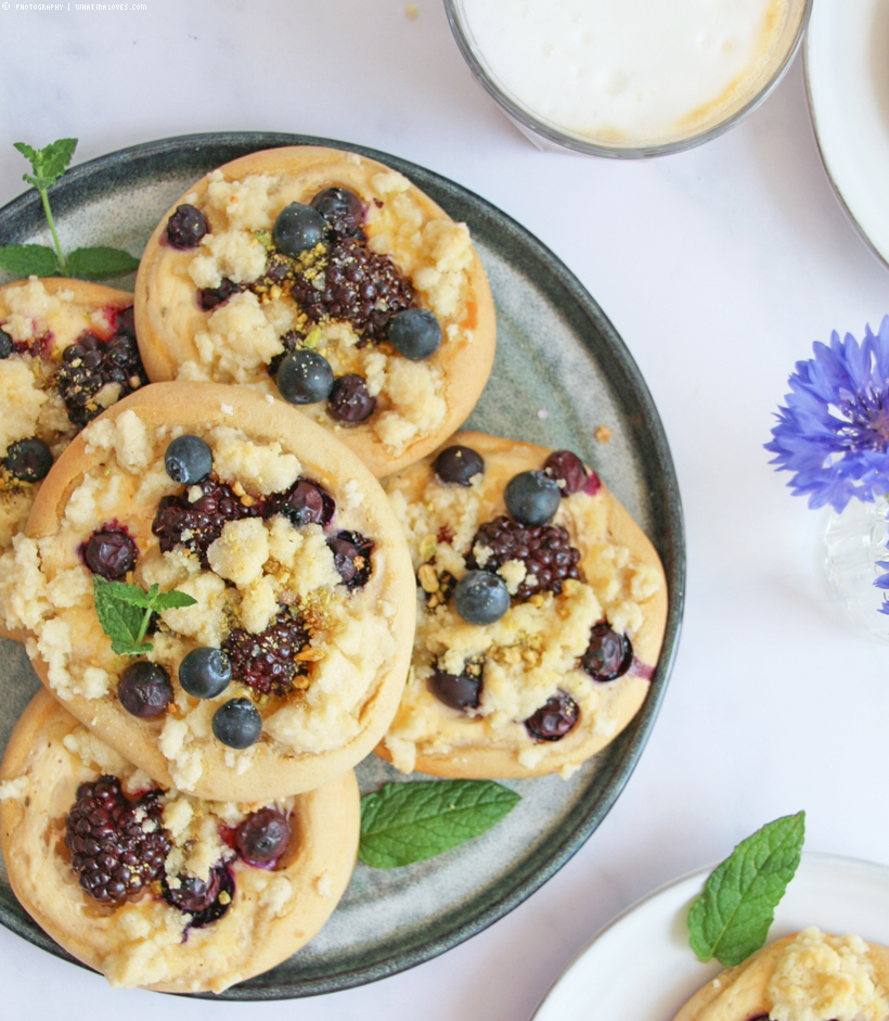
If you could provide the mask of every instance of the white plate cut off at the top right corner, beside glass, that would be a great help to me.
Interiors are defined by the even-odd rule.
[[[804,52],[827,175],[864,240],[889,264],[889,2],[817,0]]]

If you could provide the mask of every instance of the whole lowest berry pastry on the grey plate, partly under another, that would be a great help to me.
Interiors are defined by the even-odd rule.
[[[112,985],[220,993],[309,942],[349,883],[351,770],[273,802],[158,788],[46,691],[0,770],[10,884],[53,940]]]

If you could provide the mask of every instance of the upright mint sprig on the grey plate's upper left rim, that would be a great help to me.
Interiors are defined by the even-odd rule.
[[[52,234],[55,251],[43,244],[5,244],[0,245],[0,269],[7,269],[21,277],[80,277],[85,280],[105,280],[132,272],[139,266],[139,259],[121,248],[104,245],[91,248],[77,248],[65,258],[55,220],[52,217],[48,191],[65,173],[77,148],[76,138],[60,138],[43,149],[34,149],[25,142],[13,143],[18,152],[30,163],[34,174],[24,174],[23,180],[40,193],[47,224]]]

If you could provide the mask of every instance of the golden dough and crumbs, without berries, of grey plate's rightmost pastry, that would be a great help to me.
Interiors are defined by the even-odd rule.
[[[526,566],[512,560],[498,567],[513,595],[501,620],[479,626],[463,621],[452,599],[436,607],[435,592],[423,589],[435,589],[446,573],[462,577],[471,553],[484,566],[490,551],[474,546],[477,529],[505,513],[510,478],[542,469],[552,452],[480,433],[459,433],[451,445],[484,457],[485,471],[472,485],[442,483],[433,471],[436,455],[384,481],[420,588],[411,673],[376,751],[404,771],[434,776],[568,776],[613,740],[645,699],[667,620],[660,561],[624,508],[600,486],[593,496],[563,496],[552,520],[567,529],[580,553],[579,580],[565,580],[559,595],[523,595],[517,589]],[[607,681],[580,668],[591,629],[603,620],[632,642],[632,663]],[[428,681],[436,671],[458,677],[467,666],[475,676],[481,668],[477,706],[451,707],[431,693]],[[525,720],[559,692],[574,700],[579,722],[561,739],[537,741]]]

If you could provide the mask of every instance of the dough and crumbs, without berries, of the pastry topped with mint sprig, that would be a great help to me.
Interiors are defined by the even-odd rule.
[[[178,485],[165,471],[166,447],[181,434],[205,438],[218,482],[234,487],[232,500],[243,494],[240,512],[256,511],[229,520],[203,560],[186,544],[190,526],[166,552],[153,532],[165,498],[185,508],[203,499],[203,485]],[[336,501],[327,531],[296,526],[275,509],[282,490],[304,478]],[[168,672],[173,689],[155,719],[130,715],[118,700],[132,658],[115,655],[103,634],[80,552],[108,522],[138,548],[127,580],[197,600],[164,611],[149,636],[154,650],[146,658]],[[370,576],[353,589],[343,584],[328,544],[338,529],[374,544]],[[35,667],[65,706],[155,780],[202,797],[260,801],[347,771],[391,720],[410,661],[413,574],[378,483],[305,416],[242,387],[153,384],[91,423],[53,465],[3,585],[25,594],[18,624],[35,636]],[[282,614],[304,636],[299,650],[281,653],[288,669],[301,665],[280,687],[248,687],[239,672],[216,698],[194,699],[179,686],[182,658],[196,647],[219,648],[235,629],[248,659],[253,638],[274,652],[284,639],[260,636]],[[217,709],[235,697],[249,699],[262,717],[259,740],[241,751],[211,730]]]

